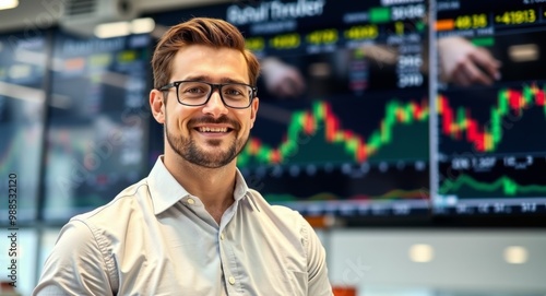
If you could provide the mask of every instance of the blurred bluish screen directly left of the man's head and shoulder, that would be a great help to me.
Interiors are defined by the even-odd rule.
[[[66,220],[146,175],[150,36],[54,37],[44,218]]]

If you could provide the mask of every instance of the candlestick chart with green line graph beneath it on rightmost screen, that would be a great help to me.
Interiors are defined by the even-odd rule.
[[[505,202],[546,196],[544,86],[448,92],[437,106],[440,196]]]

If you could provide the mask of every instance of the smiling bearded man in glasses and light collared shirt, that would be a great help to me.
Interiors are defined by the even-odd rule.
[[[259,105],[259,64],[240,33],[190,20],[165,34],[152,66],[165,154],[62,228],[33,294],[332,295],[310,225],[269,205],[236,168]]]

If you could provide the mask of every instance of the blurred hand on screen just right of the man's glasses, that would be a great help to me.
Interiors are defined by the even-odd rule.
[[[297,97],[306,88],[305,79],[296,67],[268,57],[261,61],[265,87],[271,94],[285,98]]]

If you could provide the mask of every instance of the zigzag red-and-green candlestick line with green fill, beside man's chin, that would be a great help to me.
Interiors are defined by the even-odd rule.
[[[306,141],[310,139],[310,142],[312,142],[312,144],[305,145],[306,149],[310,146],[306,158],[309,162],[337,158],[363,163],[378,155],[389,144],[392,144],[396,138],[395,130],[399,127],[406,126],[411,128],[419,125],[418,128],[412,129],[412,132],[418,133],[420,138],[426,139],[428,134],[428,117],[429,108],[426,99],[420,103],[415,100],[402,103],[392,99],[384,105],[384,117],[376,127],[367,127],[372,131],[365,138],[363,134],[343,127],[342,119],[334,114],[330,103],[318,100],[310,109],[293,113],[286,134],[277,146],[265,144],[259,138],[251,138],[239,155],[238,164],[246,166],[251,162],[259,164],[293,162],[296,159],[293,155],[297,154],[304,146],[300,145],[302,138]],[[416,154],[420,153],[423,157],[426,157],[427,143],[422,144],[425,149],[420,149]],[[300,154],[298,156],[301,156]]]

